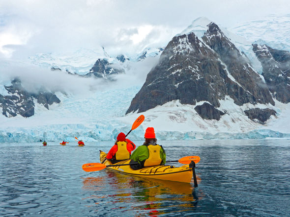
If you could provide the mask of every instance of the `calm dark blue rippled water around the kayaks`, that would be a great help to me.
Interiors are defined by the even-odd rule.
[[[290,140],[160,141],[201,157],[196,189],[82,170],[112,144],[0,144],[0,216],[290,216]]]

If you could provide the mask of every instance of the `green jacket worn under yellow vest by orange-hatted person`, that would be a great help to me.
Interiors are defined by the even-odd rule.
[[[149,144],[148,144],[149,145]],[[153,144],[150,144],[153,145]],[[157,144],[156,144],[157,145]],[[160,145],[161,146],[161,145]],[[136,162],[145,162],[146,159],[149,158],[149,150],[147,148],[147,145],[141,145],[137,147],[137,149],[132,153],[130,159]],[[166,163],[166,153],[163,147],[160,148],[160,158],[162,160],[161,165],[165,165]]]

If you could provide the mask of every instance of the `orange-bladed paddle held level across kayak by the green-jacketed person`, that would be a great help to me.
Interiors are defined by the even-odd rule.
[[[200,162],[200,160],[201,160],[201,158],[199,156],[186,156],[186,157],[180,158],[179,160],[166,161],[166,163],[179,162],[180,164],[190,164],[191,161],[194,161],[197,164]],[[138,164],[138,163],[136,163],[136,164]],[[99,170],[105,169],[107,167],[119,167],[119,166],[129,166],[129,165],[133,165],[133,164],[105,165],[105,164],[101,164],[101,163],[88,163],[88,164],[84,164],[82,166],[82,168],[86,172],[93,172],[93,171],[99,171]]]

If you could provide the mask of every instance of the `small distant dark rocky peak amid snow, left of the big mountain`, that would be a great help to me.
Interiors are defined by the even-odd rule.
[[[98,59],[86,76],[94,75],[96,77],[108,78],[110,75],[119,73],[125,73],[124,69],[114,67],[114,64],[109,63],[106,59]]]

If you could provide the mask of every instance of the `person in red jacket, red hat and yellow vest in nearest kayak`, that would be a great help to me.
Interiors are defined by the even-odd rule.
[[[113,164],[122,160],[130,159],[131,151],[135,148],[136,145],[129,139],[126,139],[126,135],[124,133],[120,132],[117,136],[115,145],[113,145],[110,149],[106,158]]]

